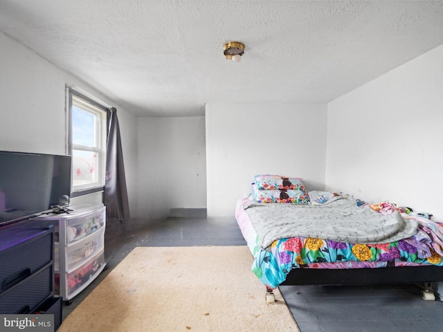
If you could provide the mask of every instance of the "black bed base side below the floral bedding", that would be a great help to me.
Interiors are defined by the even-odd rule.
[[[320,269],[294,268],[282,282],[290,285],[422,284],[443,282],[442,266]]]

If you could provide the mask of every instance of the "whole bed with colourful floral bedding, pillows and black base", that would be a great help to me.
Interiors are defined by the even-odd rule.
[[[443,281],[443,225],[428,214],[308,192],[300,178],[259,175],[251,190],[237,201],[235,218],[268,302],[280,285],[309,284],[417,283],[424,299],[435,299],[431,283]]]

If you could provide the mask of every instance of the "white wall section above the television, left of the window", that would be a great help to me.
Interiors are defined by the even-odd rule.
[[[0,149],[66,154],[66,74],[0,32]]]

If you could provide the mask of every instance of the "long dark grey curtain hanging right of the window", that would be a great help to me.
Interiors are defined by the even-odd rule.
[[[118,246],[118,239],[125,236],[130,216],[117,110],[113,107],[107,112],[109,132],[105,178],[105,241],[108,252],[112,252]]]

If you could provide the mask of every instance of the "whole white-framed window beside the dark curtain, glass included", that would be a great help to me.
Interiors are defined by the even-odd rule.
[[[105,185],[107,109],[73,89],[69,91],[69,154],[73,157],[73,196]]]

